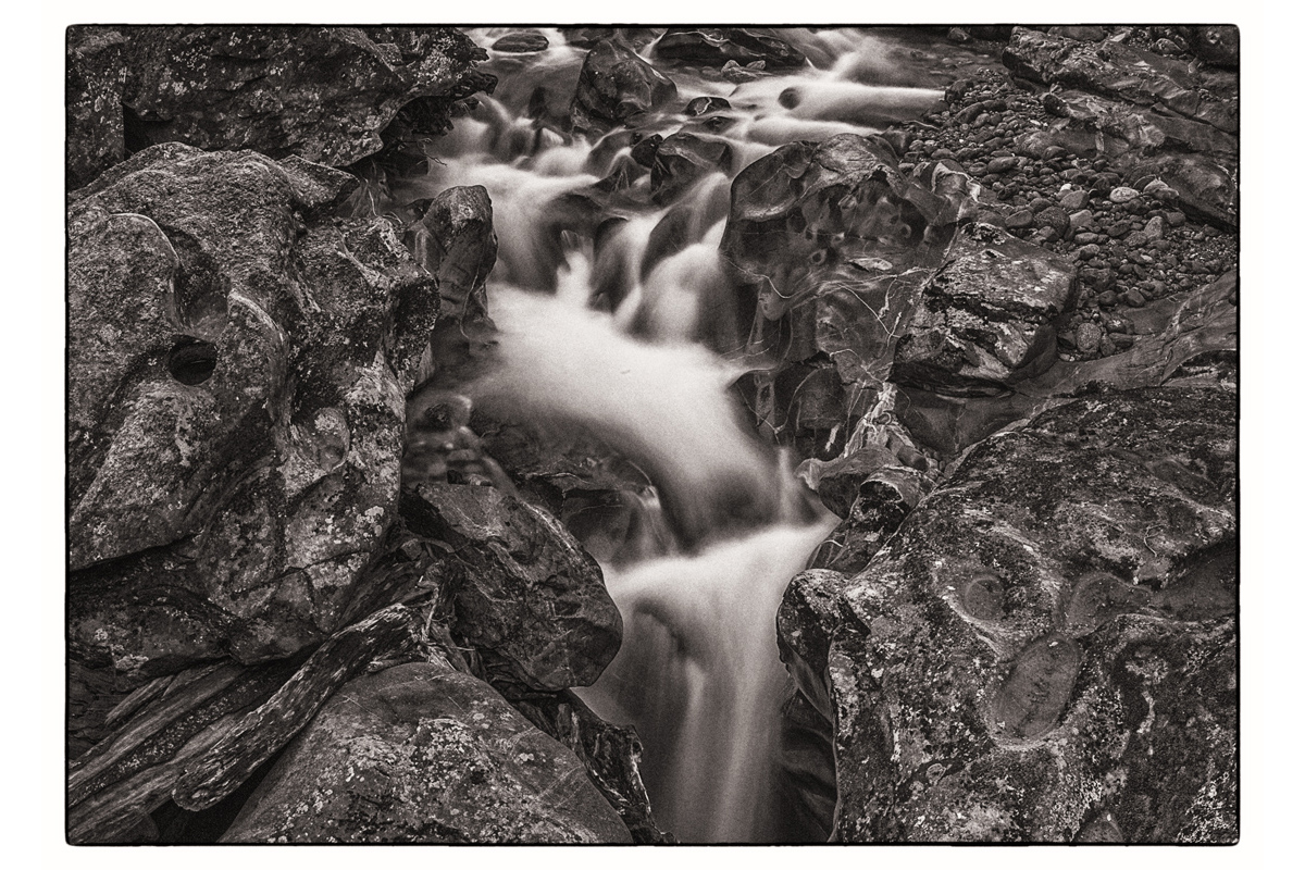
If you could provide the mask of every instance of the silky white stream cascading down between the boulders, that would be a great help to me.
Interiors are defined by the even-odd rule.
[[[506,31],[468,33],[488,48]],[[637,133],[685,128],[728,146],[719,171],[654,203],[647,172],[599,184],[629,164],[630,130],[592,141],[564,132],[586,50],[543,33],[543,52],[491,51],[483,68],[500,78],[495,95],[432,141],[429,172],[394,196],[488,190],[499,237],[489,314],[500,331],[492,370],[466,391],[499,416],[574,427],[629,458],[656,484],[645,511],[664,513],[679,532],[632,544],[624,558],[607,553],[624,643],[579,694],[636,727],[658,822],[676,837],[774,841],[784,686],[775,612],[834,518],[731,391],[757,363],[732,352],[756,300],[740,299],[716,253],[729,183],[786,142],[917,116],[955,76],[940,73],[912,34],[786,30],[806,68],[737,85],[656,63],[645,47],[679,97]],[[729,108],[690,123],[683,110],[696,97],[723,97]]]

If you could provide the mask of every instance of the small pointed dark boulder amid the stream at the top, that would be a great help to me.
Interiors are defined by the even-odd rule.
[[[677,93],[675,82],[624,44],[600,42],[581,67],[572,124],[583,133],[606,133],[667,106]]]

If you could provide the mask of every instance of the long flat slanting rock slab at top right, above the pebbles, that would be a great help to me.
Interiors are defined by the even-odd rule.
[[[1015,27],[1002,63],[1018,76],[1122,99],[1150,108],[1160,103],[1184,117],[1237,132],[1237,95],[1211,93],[1214,80],[1193,73],[1180,60],[1117,42],[1083,43]]]

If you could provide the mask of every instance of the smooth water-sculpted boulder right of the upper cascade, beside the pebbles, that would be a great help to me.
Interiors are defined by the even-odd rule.
[[[829,459],[893,369],[893,353],[974,187],[949,167],[898,170],[878,137],[795,142],[733,181],[720,253],[757,293],[744,383],[758,421]],[[778,357],[778,359],[776,359]]]

